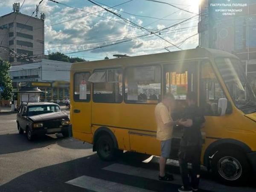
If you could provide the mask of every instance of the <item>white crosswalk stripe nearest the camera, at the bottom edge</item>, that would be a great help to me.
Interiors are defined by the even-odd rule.
[[[115,183],[112,181],[98,179],[85,175],[77,177],[73,180],[69,180],[66,183],[96,192],[153,192],[151,190],[124,185],[121,183]]]

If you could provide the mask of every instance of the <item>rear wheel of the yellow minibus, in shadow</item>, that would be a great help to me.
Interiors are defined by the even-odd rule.
[[[96,150],[100,159],[105,161],[115,160],[120,152],[115,148],[114,141],[110,135],[102,135],[97,139]]]

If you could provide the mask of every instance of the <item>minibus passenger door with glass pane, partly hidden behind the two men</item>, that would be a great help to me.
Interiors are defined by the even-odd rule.
[[[198,61],[187,61],[164,66],[165,93],[171,92],[175,96],[176,106],[172,110],[174,120],[182,117],[186,106],[186,93],[197,93],[197,69]],[[171,158],[176,159],[180,148],[180,138],[183,135],[181,126],[174,126],[172,133]]]

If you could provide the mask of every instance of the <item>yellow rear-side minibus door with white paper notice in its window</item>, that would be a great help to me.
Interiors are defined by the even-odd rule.
[[[72,128],[75,132],[91,133],[91,83],[90,72],[74,74]]]

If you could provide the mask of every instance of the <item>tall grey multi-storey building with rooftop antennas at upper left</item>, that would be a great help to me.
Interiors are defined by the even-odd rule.
[[[0,57],[12,65],[28,62],[13,56],[28,55],[38,61],[44,58],[44,15],[30,17],[14,9],[14,12],[0,17]],[[32,60],[31,60],[32,61]]]

